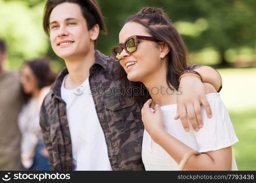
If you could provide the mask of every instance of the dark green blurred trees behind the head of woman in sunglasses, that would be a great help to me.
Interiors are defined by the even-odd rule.
[[[98,46],[106,54],[118,43],[118,33],[131,14],[142,7],[162,7],[185,38],[190,51],[212,47],[227,64],[225,51],[249,46],[255,48],[255,0],[98,0],[109,35],[101,36]],[[106,44],[108,43],[108,44]],[[110,48],[109,48],[110,47]]]

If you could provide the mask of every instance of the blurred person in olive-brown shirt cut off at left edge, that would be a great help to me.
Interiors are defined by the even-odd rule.
[[[19,72],[5,71],[5,42],[0,39],[0,170],[21,170],[20,140],[17,118],[23,95]]]

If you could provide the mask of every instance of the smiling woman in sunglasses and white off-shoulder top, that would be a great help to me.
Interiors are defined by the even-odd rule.
[[[200,130],[193,130],[189,123],[192,130],[185,131],[175,117],[177,96],[182,94],[178,90],[179,76],[188,65],[185,44],[164,12],[144,8],[130,16],[119,33],[119,42],[112,50],[115,60],[120,61],[130,81],[147,87],[152,98],[141,111],[146,170],[237,170],[231,145],[238,139],[213,86],[205,83],[212,118],[203,107],[195,108],[203,112]],[[198,73],[191,73],[200,78]],[[183,110],[189,111],[189,107]]]

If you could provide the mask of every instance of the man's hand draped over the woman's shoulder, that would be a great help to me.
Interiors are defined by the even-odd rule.
[[[193,75],[185,75],[179,84],[181,95],[177,98],[177,114],[174,119],[181,119],[185,131],[189,131],[189,118],[195,131],[203,127],[201,104],[211,118],[212,112],[208,100],[205,96],[205,87],[199,78]]]

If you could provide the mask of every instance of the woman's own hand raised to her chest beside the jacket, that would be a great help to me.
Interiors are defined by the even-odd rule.
[[[163,129],[163,112],[159,105],[155,105],[155,112],[152,112],[149,105],[152,103],[152,99],[149,99],[141,109],[142,122],[146,131],[154,140],[156,135]]]

